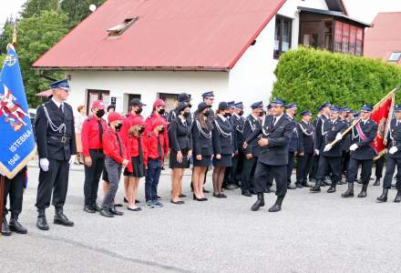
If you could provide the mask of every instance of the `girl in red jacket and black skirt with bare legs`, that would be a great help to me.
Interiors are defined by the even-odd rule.
[[[148,167],[148,149],[145,143],[145,120],[142,116],[135,116],[129,126],[128,135],[125,136],[125,144],[129,153],[130,164],[124,170],[124,176],[129,177],[127,187],[128,209],[132,211],[141,210],[135,205],[138,195],[139,178],[145,177]]]

